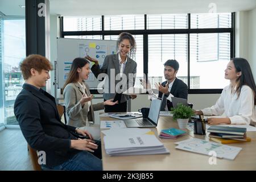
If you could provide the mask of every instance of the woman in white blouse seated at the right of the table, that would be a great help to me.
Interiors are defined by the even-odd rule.
[[[256,122],[256,86],[250,65],[246,59],[233,58],[225,69],[225,78],[230,80],[220,98],[212,107],[195,111],[197,115],[222,115],[223,118],[208,118],[208,123],[218,125],[246,124]]]

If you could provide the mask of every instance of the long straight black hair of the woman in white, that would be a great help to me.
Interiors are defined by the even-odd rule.
[[[253,90],[253,96],[254,96],[254,105],[256,105],[256,86],[255,81],[253,78],[253,73],[251,72],[251,67],[246,59],[243,59],[241,57],[233,58],[232,59],[234,66],[236,68],[236,72],[241,72],[241,76],[237,78],[237,94],[238,97],[241,93],[241,88],[243,85],[247,85]]]

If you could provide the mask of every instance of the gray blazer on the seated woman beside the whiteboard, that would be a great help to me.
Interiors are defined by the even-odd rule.
[[[86,86],[85,92],[90,96],[89,86],[84,82]],[[69,83],[65,86],[63,95],[66,106],[67,124],[75,127],[82,127],[86,125],[86,118],[88,121],[94,123],[94,110],[104,109],[103,102],[98,104],[92,104],[90,101],[90,110],[88,112],[88,103],[85,102],[84,106],[81,106],[79,102],[82,98],[82,89],[78,83]]]

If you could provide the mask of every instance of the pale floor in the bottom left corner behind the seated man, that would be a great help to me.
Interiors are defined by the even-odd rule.
[[[0,131],[0,171],[33,170],[27,142],[20,129]]]

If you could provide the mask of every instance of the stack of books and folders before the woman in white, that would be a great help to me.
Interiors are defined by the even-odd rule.
[[[210,133],[210,140],[222,144],[251,141],[251,138],[246,137],[246,128],[210,126],[208,132]]]

